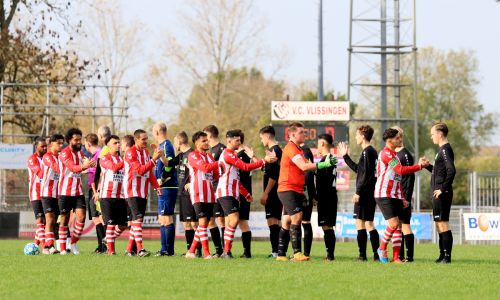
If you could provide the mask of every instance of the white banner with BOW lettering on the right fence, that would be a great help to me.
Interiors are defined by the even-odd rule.
[[[468,241],[499,241],[500,213],[464,214],[465,239]]]

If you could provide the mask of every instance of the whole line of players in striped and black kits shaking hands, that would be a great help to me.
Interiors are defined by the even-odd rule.
[[[251,257],[251,232],[248,226],[249,202],[252,200],[250,172],[262,168],[264,192],[260,202],[265,206],[270,229],[270,256],[276,257],[277,260],[288,260],[286,252],[291,240],[294,252],[292,259],[309,259],[312,243],[310,216],[313,203],[316,202],[318,223],[324,230],[326,259],[333,260],[338,202],[336,158],[330,154],[333,138],[328,134],[318,137],[318,151],[322,158],[318,163],[313,163],[312,153],[303,145],[303,125],[293,123],[288,132],[290,141],[281,151],[274,137],[274,129],[266,126],[260,130],[261,141],[268,149],[262,160],[257,159],[251,149],[242,146],[244,134],[241,130],[227,132],[226,147],[220,143],[218,130],[213,125],[193,135],[195,149],[190,148],[185,132],[178,133],[174,138],[177,156],[174,153],[174,145],[167,139],[167,128],[163,123],[157,123],[153,127],[153,136],[158,145],[151,145],[154,151],[152,157],[146,149],[148,140],[145,131],[137,130],[133,137],[125,136],[121,140],[115,135],[108,135],[104,139],[106,151],[101,152],[103,154],[99,156],[99,166],[103,173],[98,181],[99,188],[96,190],[95,186],[90,185],[91,190],[99,195],[95,197],[99,200],[95,203],[100,203],[103,222],[106,224],[107,253],[115,253],[114,240],[126,228],[129,210],[131,226],[126,253],[150,255],[142,247],[142,218],[151,184],[159,195],[158,214],[162,247],[157,252],[158,256],[174,255],[173,214],[175,203],[178,202],[186,232],[187,258],[232,258],[232,241],[238,225],[242,230],[242,257]],[[434,176],[436,172],[433,172],[434,219],[440,232],[441,250],[437,261],[451,262],[452,236],[447,221],[454,176],[454,167],[453,170],[449,167],[450,162],[453,165],[453,152],[446,140],[445,124],[433,126],[431,135],[433,141],[442,148],[436,157],[436,164],[443,161],[441,164],[445,165],[444,175],[441,166],[441,173]],[[338,152],[357,173],[356,193],[352,200],[358,229],[358,260],[367,260],[368,231],[374,260],[388,261],[386,248],[392,239],[393,261],[413,261],[414,238],[409,226],[411,206],[405,199],[411,199],[413,191],[414,177],[411,174],[422,167],[432,166],[425,158],[421,158],[419,164],[412,166],[413,158],[403,147],[403,132],[400,128],[391,128],[384,132],[386,148],[380,155],[377,155],[370,145],[372,136],[373,129],[370,126],[365,125],[357,129],[356,142],[363,148],[358,164],[349,157],[348,148],[344,143],[339,143],[338,146]],[[69,147],[61,151],[64,139]],[[71,210],[76,212],[76,221],[70,248],[73,253],[78,254],[76,242],[83,229],[85,208],[88,205],[82,193],[81,175],[97,165],[95,158],[88,160],[83,157],[81,139],[82,133],[78,129],[70,129],[66,137],[53,135],[50,137],[50,149],[47,153],[44,153],[45,143],[39,139],[36,141],[36,152],[28,162],[30,199],[37,217],[36,238],[38,242],[42,242],[45,236],[45,254],[58,252],[53,245],[57,214],[62,216],[59,225],[61,254],[66,253],[63,241],[68,235],[67,215]],[[91,146],[92,144],[89,144],[87,147]],[[120,148],[125,153],[124,158],[120,156]],[[40,188],[37,193],[38,186]],[[89,199],[91,198],[89,195]],[[375,203],[379,205],[389,223],[380,245],[378,233],[373,226]],[[95,218],[94,213],[92,216]],[[215,222],[216,218],[222,229],[221,235]],[[304,253],[301,251],[301,226],[304,228]],[[400,251],[401,226],[408,248],[406,258],[404,251]],[[216,248],[214,256],[210,254],[208,247],[208,231]],[[200,245],[203,255],[200,253]]]

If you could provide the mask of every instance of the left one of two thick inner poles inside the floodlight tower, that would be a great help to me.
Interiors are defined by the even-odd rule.
[[[386,0],[380,1],[380,45],[384,50],[387,45],[387,3]],[[387,118],[387,54],[385,50],[380,55],[380,99],[381,99],[381,117]],[[382,121],[381,132],[387,129],[387,121]],[[384,148],[384,142],[381,141],[381,149]]]

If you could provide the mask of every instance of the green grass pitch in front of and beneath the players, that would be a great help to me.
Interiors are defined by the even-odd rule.
[[[324,262],[315,242],[309,262],[266,258],[267,242],[254,242],[252,259],[93,255],[25,256],[27,240],[0,240],[0,299],[499,299],[500,248],[455,246],[453,263],[433,262],[436,245],[416,245],[416,262],[383,265],[354,261],[356,244],[337,243],[336,261]],[[157,241],[145,247],[156,250]],[[182,241],[176,250],[183,252]],[[122,252],[125,242],[117,244]],[[241,253],[236,241],[235,255]],[[50,296],[49,296],[50,295]]]

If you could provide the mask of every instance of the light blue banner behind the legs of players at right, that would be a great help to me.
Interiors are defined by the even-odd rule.
[[[416,239],[432,239],[432,218],[430,213],[413,213],[410,222]],[[382,213],[375,213],[373,223],[379,235],[382,236],[387,226],[387,222],[384,220]],[[337,213],[337,224],[335,229],[337,237],[356,238],[356,220],[353,219],[352,213]]]

